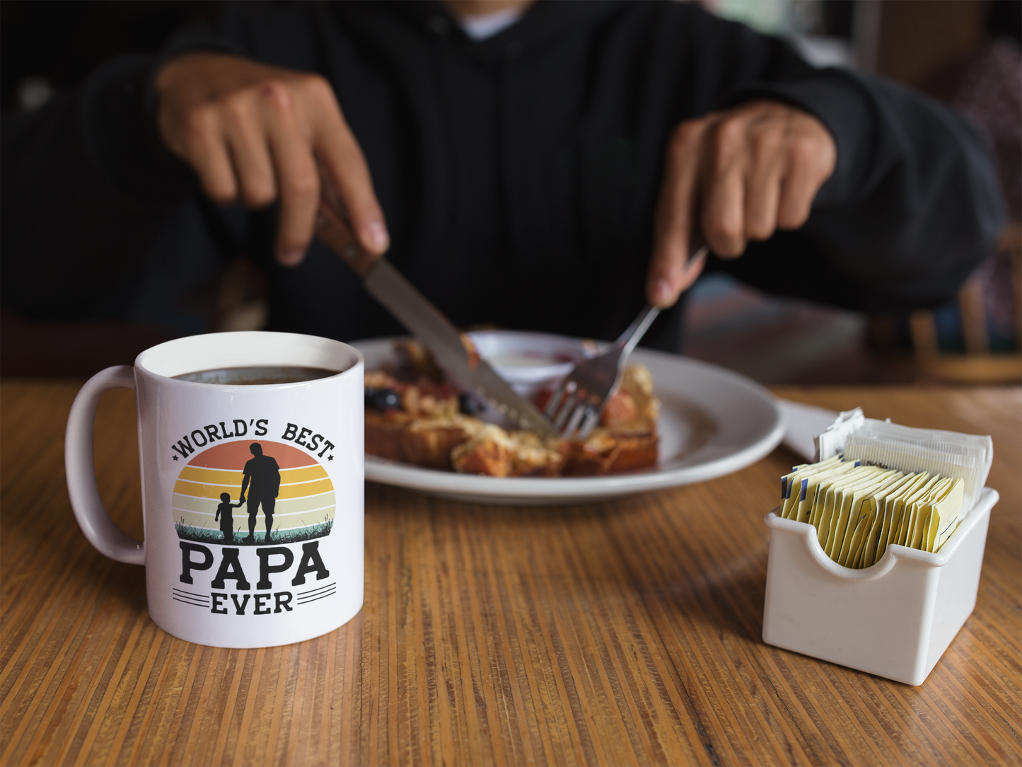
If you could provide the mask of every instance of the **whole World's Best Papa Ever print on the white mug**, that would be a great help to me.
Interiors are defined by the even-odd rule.
[[[256,435],[266,434],[268,423],[259,421]],[[318,539],[330,535],[336,508],[326,468],[315,454],[259,436],[205,447],[215,434],[220,440],[244,434],[238,424],[244,425],[236,421],[233,434],[224,424],[223,434],[211,424],[203,430],[205,444],[199,443],[203,431],[195,430],[187,444],[174,448],[174,460],[189,458],[174,483],[171,502],[181,545],[178,580],[189,588],[175,586],[172,598],[220,615],[259,616],[290,613],[333,596],[336,583],[319,583],[329,580],[330,571]],[[319,449],[303,439],[312,430],[298,438],[296,430],[288,423],[283,439]],[[325,445],[323,453],[333,447]],[[308,583],[307,578],[314,580]],[[244,593],[253,585],[257,593]]]

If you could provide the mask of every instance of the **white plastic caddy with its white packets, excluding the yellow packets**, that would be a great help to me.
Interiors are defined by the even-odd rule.
[[[763,641],[823,661],[922,684],[972,614],[997,492],[983,485],[993,456],[989,437],[919,430],[841,413],[817,439],[817,460],[883,463],[965,482],[958,527],[935,552],[889,545],[863,570],[823,550],[817,530],[766,514],[771,529]]]

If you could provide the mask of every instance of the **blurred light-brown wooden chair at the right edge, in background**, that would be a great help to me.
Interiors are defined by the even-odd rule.
[[[1010,224],[1006,228],[1001,251],[1007,257],[1011,275],[1015,350],[1002,354],[990,351],[984,275],[978,270],[959,291],[964,354],[940,351],[933,312],[919,311],[909,318],[916,362],[924,376],[961,384],[1022,381],[1022,345],[1019,343],[1022,340],[1022,224]]]

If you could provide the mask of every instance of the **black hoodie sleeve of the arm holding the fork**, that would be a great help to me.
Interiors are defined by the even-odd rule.
[[[704,70],[713,70],[719,49],[735,52],[717,70],[717,107],[784,101],[820,119],[837,146],[834,174],[804,227],[750,243],[743,258],[713,268],[771,292],[900,311],[953,298],[992,253],[1006,220],[1000,183],[988,147],[964,118],[883,78],[812,69],[785,42],[739,25],[683,19],[700,15],[690,9],[663,12],[686,28]]]

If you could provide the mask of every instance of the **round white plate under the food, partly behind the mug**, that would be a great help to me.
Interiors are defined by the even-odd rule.
[[[393,360],[391,339],[360,341],[366,369]],[[660,398],[660,460],[608,477],[479,477],[366,456],[366,479],[475,503],[578,503],[704,482],[766,455],[784,437],[781,412],[765,389],[730,370],[677,355],[637,349],[632,362],[653,373]]]

